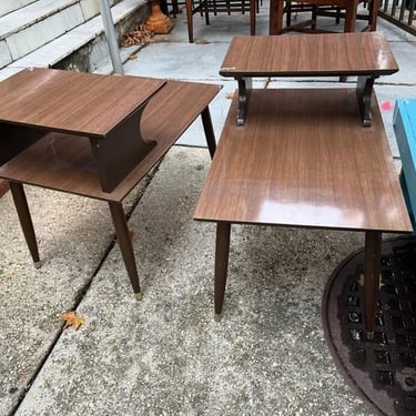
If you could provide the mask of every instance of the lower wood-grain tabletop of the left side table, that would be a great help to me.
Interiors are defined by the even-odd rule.
[[[1,85],[1,84],[0,84]],[[105,201],[122,201],[220,91],[215,84],[168,81],[142,116],[144,140],[156,146],[111,193],[103,192],[88,138],[48,133],[0,166],[0,177]]]

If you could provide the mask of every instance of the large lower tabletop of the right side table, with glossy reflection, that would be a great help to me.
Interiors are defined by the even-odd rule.
[[[377,102],[356,122],[353,89],[253,90],[244,126],[237,98],[195,220],[409,232]]]

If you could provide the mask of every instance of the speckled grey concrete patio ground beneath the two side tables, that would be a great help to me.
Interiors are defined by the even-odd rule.
[[[257,32],[267,32],[261,7]],[[332,24],[332,22],[329,22]],[[219,69],[248,16],[211,26],[185,14],[141,48],[126,74],[220,83],[216,139],[235,81]],[[379,20],[400,71],[377,80],[393,155],[396,98],[416,97],[415,38]],[[134,58],[134,57],[133,57]],[[335,79],[256,80],[257,88],[336,87]],[[163,114],[161,114],[163,116]],[[364,235],[234,226],[224,318],[213,319],[215,227],[193,221],[210,169],[197,120],[125,201],[140,268],[138,303],[105,203],[27,187],[42,268],[32,266],[10,193],[0,199],[0,414],[371,415],[337,372],[321,326],[335,267]],[[61,314],[85,322],[62,331]]]

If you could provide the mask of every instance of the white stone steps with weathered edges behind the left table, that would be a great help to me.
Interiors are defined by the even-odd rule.
[[[0,17],[0,81],[31,67],[112,72],[98,0],[3,2],[1,10],[10,11]],[[119,39],[149,16],[145,0],[111,0],[110,4]],[[121,49],[122,61],[139,48]],[[0,180],[0,196],[7,190]]]

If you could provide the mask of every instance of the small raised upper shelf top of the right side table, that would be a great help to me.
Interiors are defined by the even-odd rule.
[[[223,77],[371,75],[398,71],[379,32],[237,35],[224,58]]]

